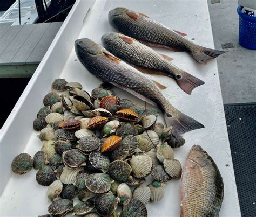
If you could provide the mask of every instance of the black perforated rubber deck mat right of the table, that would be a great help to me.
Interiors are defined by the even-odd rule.
[[[241,215],[256,216],[256,103],[224,109]]]

